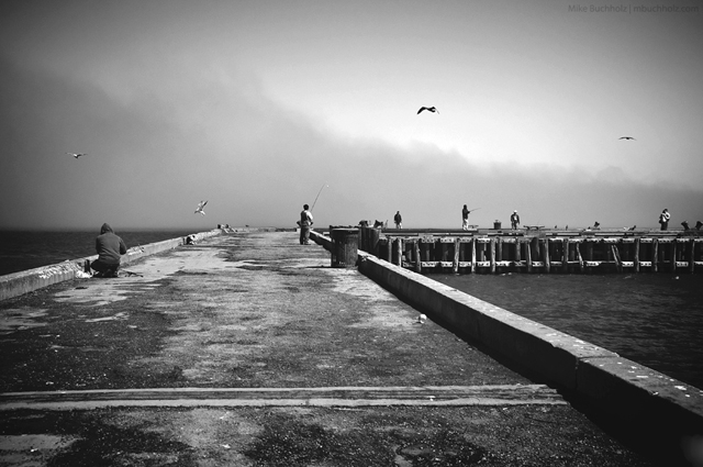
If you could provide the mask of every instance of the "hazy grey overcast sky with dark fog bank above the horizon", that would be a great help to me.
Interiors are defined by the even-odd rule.
[[[0,227],[693,224],[702,82],[698,0],[4,0]]]

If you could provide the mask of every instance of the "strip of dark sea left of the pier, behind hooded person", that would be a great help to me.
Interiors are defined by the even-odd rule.
[[[191,230],[116,231],[127,248],[182,237]],[[0,276],[96,254],[94,231],[0,231]]]

